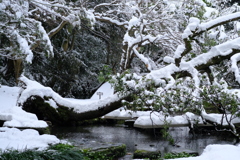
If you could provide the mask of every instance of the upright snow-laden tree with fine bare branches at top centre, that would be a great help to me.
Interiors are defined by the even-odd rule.
[[[143,55],[139,51],[136,52],[136,48],[156,45],[162,50],[171,52],[181,41],[178,38],[180,34],[176,30],[177,27],[172,26],[176,21],[172,19],[174,14],[169,14],[172,10],[170,5],[160,1],[146,3],[150,6],[149,8],[141,5],[140,1],[103,3],[94,8],[96,20],[117,25],[125,30],[121,71],[130,68],[134,57],[138,57],[140,61],[143,60],[149,71],[156,69],[156,64],[152,63],[153,60],[149,56],[151,53]],[[149,62],[146,64],[146,57],[151,64]]]

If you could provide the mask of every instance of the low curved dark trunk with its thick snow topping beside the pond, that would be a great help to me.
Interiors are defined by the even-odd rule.
[[[49,87],[21,77],[23,91],[18,104],[39,119],[52,121],[58,125],[69,125],[77,121],[101,117],[121,107],[126,96],[111,95],[103,99],[76,100],[63,98]]]

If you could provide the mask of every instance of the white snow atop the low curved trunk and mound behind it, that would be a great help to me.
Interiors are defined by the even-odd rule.
[[[29,80],[26,77],[21,77],[20,79],[27,85],[27,88],[21,93],[21,96],[18,99],[18,103],[20,104],[24,103],[32,95],[40,97],[46,96],[52,97],[53,101],[57,104],[73,108],[73,110],[77,113],[82,113],[89,110],[99,109],[105,106],[105,104],[114,102],[116,101],[116,99],[120,98],[118,95],[113,95],[113,89],[111,88],[109,83],[106,83],[102,87],[100,87],[91,99],[71,99],[63,98],[59,94],[54,92],[51,88],[44,87],[38,82]],[[100,97],[99,95],[97,95],[99,92],[101,92],[100,94],[102,94],[101,99],[99,99]],[[52,104],[49,101],[48,103]]]

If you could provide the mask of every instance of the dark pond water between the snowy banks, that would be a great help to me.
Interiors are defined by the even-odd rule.
[[[92,141],[124,143],[128,152],[136,149],[160,150],[169,152],[173,149],[189,149],[202,153],[209,144],[233,144],[234,139],[226,135],[193,134],[189,133],[188,127],[170,128],[170,134],[177,146],[169,145],[160,135],[146,130],[124,127],[123,125],[95,125],[80,127],[55,127],[52,134],[58,138],[67,139],[73,144],[83,144]]]

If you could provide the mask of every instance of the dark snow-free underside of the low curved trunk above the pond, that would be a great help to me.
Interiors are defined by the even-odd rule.
[[[123,97],[126,99],[126,97]],[[119,98],[117,101],[108,103],[103,107],[99,107],[97,110],[89,110],[82,113],[75,112],[72,108],[57,104],[57,108],[50,106],[46,101],[50,98],[39,96],[31,96],[23,103],[22,107],[25,111],[31,112],[37,115],[41,120],[51,121],[55,125],[74,125],[76,122],[99,118],[105,114],[116,110],[122,106],[121,101],[123,98]]]

